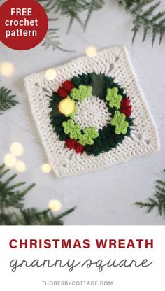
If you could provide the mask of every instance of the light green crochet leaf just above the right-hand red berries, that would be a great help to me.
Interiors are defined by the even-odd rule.
[[[118,88],[114,87],[112,89],[107,89],[106,100],[109,101],[109,106],[111,108],[115,107],[117,109],[120,108],[120,103],[122,101],[122,96],[118,94]]]

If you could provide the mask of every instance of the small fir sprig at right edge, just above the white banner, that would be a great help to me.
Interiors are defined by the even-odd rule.
[[[164,170],[165,172],[165,170]],[[136,202],[140,208],[147,208],[150,213],[153,209],[157,208],[159,215],[165,215],[165,181],[157,180],[156,192],[153,198],[148,198],[148,201]]]

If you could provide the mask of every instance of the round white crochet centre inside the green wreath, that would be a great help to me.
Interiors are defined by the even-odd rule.
[[[102,129],[110,121],[110,113],[105,101],[99,97],[85,98],[84,101],[76,103],[78,111],[74,121],[82,126],[82,129],[95,126],[97,129]]]

